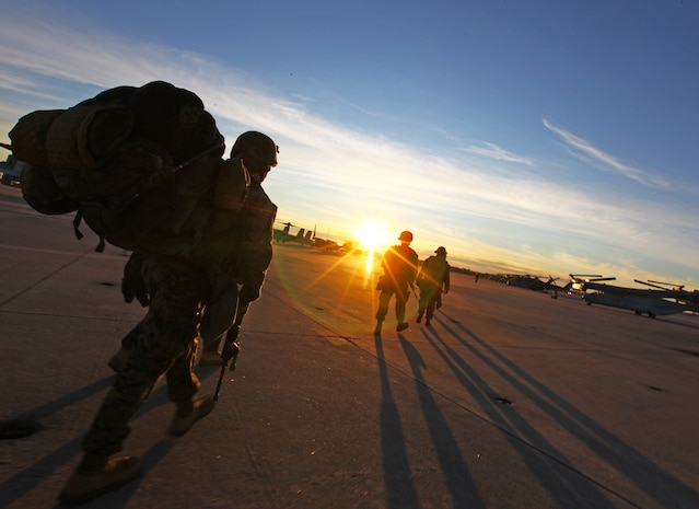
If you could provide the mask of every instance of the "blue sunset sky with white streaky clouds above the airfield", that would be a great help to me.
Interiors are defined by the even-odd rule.
[[[0,141],[164,80],[229,151],[275,139],[292,233],[374,220],[463,268],[699,287],[697,0],[19,3],[0,0]]]

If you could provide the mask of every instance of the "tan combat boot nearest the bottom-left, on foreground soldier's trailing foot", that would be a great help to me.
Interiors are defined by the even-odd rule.
[[[115,458],[85,454],[60,493],[66,506],[79,506],[133,481],[143,468],[138,456]]]

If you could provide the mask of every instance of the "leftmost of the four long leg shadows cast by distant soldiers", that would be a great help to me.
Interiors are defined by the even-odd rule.
[[[383,453],[386,501],[392,509],[418,509],[418,491],[412,481],[400,414],[391,392],[381,336],[374,336],[381,379],[381,449]]]

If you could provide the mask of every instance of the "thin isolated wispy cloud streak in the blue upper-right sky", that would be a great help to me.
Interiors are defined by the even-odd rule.
[[[598,167],[602,167],[606,171],[614,171],[627,178],[643,184],[644,186],[663,189],[669,188],[669,184],[663,177],[652,175],[643,170],[639,170],[638,167],[624,164],[614,155],[599,150],[590,141],[573,135],[562,127],[554,125],[547,118],[544,118],[541,122],[547,129],[555,132],[560,137],[561,140],[563,140],[569,149],[569,152],[573,157],[585,162],[592,162],[593,164],[596,164]]]

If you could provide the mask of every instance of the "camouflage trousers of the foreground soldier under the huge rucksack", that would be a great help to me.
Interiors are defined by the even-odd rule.
[[[194,359],[203,278],[179,261],[151,257],[144,259],[141,276],[149,310],[129,333],[131,352],[83,440],[85,453],[121,450],[130,418],[163,374],[172,402],[191,398],[200,386]]]

